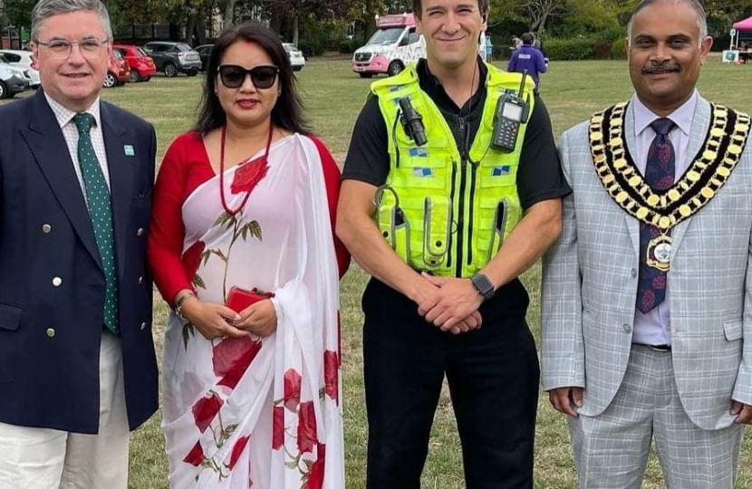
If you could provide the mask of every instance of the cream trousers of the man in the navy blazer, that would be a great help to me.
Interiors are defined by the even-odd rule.
[[[103,332],[99,434],[0,423],[0,489],[126,489],[129,439],[121,340]]]

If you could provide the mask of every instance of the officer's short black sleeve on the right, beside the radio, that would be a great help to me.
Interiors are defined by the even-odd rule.
[[[538,202],[564,197],[571,192],[562,173],[548,110],[544,101],[535,97],[517,168],[520,204],[526,210]]]

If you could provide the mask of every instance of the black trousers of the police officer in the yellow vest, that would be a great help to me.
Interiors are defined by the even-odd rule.
[[[515,286],[520,291],[509,292],[522,292],[524,307],[509,314],[509,302],[495,298],[481,306],[479,330],[455,336],[371,280],[362,301],[368,489],[419,489],[445,374],[467,488],[533,487],[540,369],[527,295]]]

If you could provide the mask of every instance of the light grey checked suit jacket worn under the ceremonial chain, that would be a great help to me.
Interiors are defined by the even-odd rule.
[[[701,147],[710,104],[699,98],[688,158]],[[628,148],[635,148],[627,110]],[[545,390],[584,388],[584,416],[597,416],[622,384],[631,350],[640,225],[596,176],[588,123],[559,141],[564,228],[544,257],[542,359]],[[752,151],[725,187],[672,231],[668,274],[674,372],[681,403],[700,428],[728,427],[731,399],[752,404]]]

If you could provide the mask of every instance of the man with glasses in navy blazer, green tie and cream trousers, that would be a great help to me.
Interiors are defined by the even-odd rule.
[[[42,90],[0,107],[0,487],[127,486],[157,409],[146,266],[156,137],[100,101],[100,0],[41,0]]]

